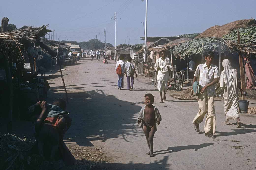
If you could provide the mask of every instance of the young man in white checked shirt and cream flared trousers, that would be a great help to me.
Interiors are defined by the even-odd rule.
[[[205,114],[205,136],[216,138],[215,133],[216,119],[214,109],[214,97],[216,94],[215,84],[219,82],[219,71],[216,65],[211,64],[214,58],[213,52],[207,52],[205,55],[205,64],[199,64],[194,74],[193,84],[199,78],[199,84],[202,86],[198,94],[199,112],[193,120],[196,132],[199,132],[199,124],[203,121]]]

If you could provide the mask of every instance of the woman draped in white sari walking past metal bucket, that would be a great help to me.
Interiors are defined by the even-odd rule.
[[[241,122],[239,119],[238,108],[238,88],[242,92],[237,81],[237,70],[231,66],[231,62],[228,59],[224,59],[222,62],[224,70],[220,75],[220,88],[224,90],[224,112],[226,116],[225,124],[229,125],[230,119],[237,119],[237,127],[241,128]]]

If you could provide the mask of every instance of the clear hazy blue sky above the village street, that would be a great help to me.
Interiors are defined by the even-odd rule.
[[[148,36],[203,32],[214,25],[256,18],[256,1],[148,0]],[[101,41],[114,45],[114,12],[117,12],[117,45],[143,43],[145,1],[141,0],[8,0],[1,2],[0,17],[18,28],[49,24],[55,40],[88,41],[101,31]]]

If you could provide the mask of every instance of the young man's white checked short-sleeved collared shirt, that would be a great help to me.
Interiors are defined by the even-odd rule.
[[[194,74],[195,77],[199,77],[199,84],[204,87],[214,79],[219,78],[219,70],[216,65],[211,64],[210,68],[208,69],[206,63],[199,64],[196,68],[196,72]],[[206,88],[208,96],[215,95],[215,85],[209,86]]]

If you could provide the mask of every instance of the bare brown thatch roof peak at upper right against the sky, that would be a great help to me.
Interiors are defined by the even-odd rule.
[[[236,30],[238,28],[248,27],[256,25],[255,19],[243,19],[237,20],[234,22],[227,23],[223,26],[213,26],[202,32],[196,38],[205,38],[205,37],[216,37],[222,38],[224,35],[229,34],[231,31]]]

